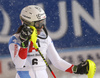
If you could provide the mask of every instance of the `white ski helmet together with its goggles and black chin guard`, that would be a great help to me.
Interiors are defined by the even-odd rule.
[[[46,14],[44,10],[37,5],[29,5],[22,9],[20,13],[20,19],[26,26],[34,26],[37,29],[40,29],[43,26],[43,30],[46,34],[46,37],[43,38],[38,36],[41,39],[46,39],[48,37],[48,32],[45,28],[45,19]]]

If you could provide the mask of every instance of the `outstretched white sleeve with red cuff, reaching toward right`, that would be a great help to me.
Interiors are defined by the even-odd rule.
[[[65,72],[72,72],[72,67],[73,65],[68,63],[67,61],[63,60],[57,53],[53,42],[51,41],[51,39],[49,39],[49,45],[48,45],[48,49],[47,49],[47,57],[50,59],[50,61],[52,62],[52,64]]]

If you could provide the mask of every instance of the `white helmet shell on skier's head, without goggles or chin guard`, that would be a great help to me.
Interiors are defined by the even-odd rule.
[[[20,19],[28,25],[34,25],[35,21],[40,21],[46,18],[44,10],[36,5],[29,5],[22,9]]]

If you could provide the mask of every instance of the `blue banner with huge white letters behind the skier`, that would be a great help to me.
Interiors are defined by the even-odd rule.
[[[7,43],[21,25],[22,8],[34,4],[45,10],[56,48],[100,45],[99,0],[0,0],[0,55],[9,54]]]

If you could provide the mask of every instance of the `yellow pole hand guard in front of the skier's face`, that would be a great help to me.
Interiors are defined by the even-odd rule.
[[[29,27],[33,30],[32,35],[31,35],[31,38],[30,38],[30,41],[33,42],[34,48],[37,49],[38,48],[38,46],[36,45],[36,41],[37,41],[37,30],[36,30],[36,28],[34,26],[29,26]]]

